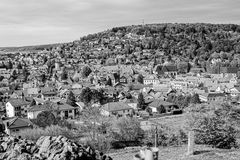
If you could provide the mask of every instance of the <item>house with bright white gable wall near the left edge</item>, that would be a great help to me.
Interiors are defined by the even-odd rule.
[[[26,116],[29,104],[30,104],[30,102],[27,102],[23,99],[10,99],[6,103],[7,117],[15,117],[15,116],[24,117],[24,116]]]

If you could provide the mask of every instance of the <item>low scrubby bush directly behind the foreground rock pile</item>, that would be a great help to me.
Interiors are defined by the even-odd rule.
[[[45,129],[33,128],[20,131],[15,134],[16,136],[21,136],[22,138],[37,141],[41,136],[65,136],[66,138],[73,139],[74,134],[71,130],[66,127],[61,127],[58,125],[48,126]]]

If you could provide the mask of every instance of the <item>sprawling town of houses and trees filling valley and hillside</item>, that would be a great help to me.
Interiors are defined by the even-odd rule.
[[[156,119],[182,116],[194,105],[238,107],[239,30],[237,25],[139,25],[31,51],[2,49],[2,132],[20,135],[53,125],[53,119],[74,130],[99,127],[99,116],[133,117],[147,131]]]

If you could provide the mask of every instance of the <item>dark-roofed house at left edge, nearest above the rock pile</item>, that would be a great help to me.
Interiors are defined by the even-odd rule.
[[[26,118],[13,117],[3,121],[5,133],[13,135],[17,132],[33,128],[33,123]]]

